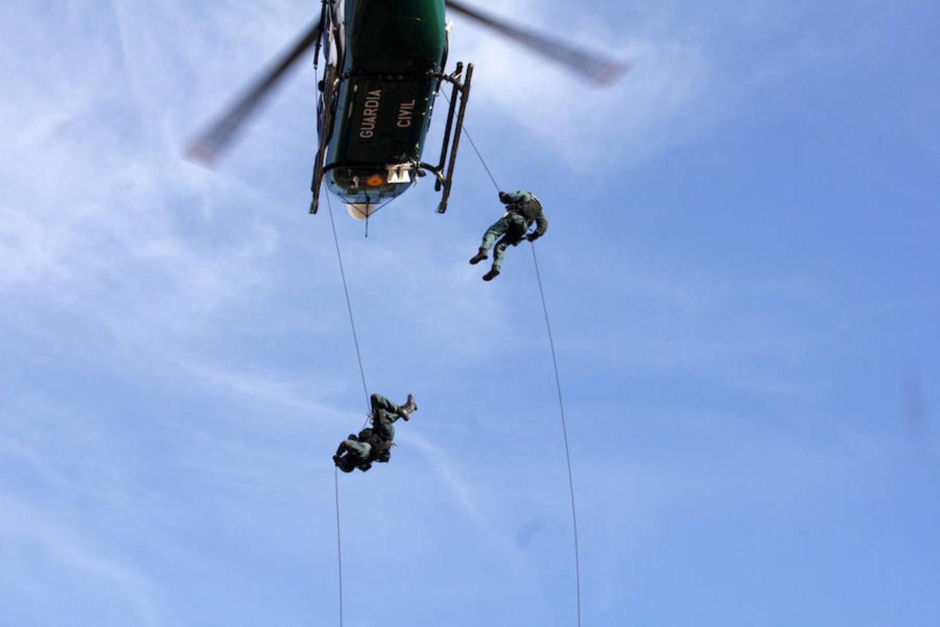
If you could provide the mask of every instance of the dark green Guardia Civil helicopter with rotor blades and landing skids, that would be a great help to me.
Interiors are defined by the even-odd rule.
[[[321,52],[318,82],[319,142],[309,211],[319,207],[320,189],[347,203],[353,218],[366,219],[385,203],[431,174],[446,212],[454,165],[470,95],[474,66],[457,63],[447,72],[451,24],[446,10],[514,39],[588,80],[610,84],[629,66],[471,8],[458,0],[321,0],[320,19],[278,56],[243,96],[230,105],[187,150],[211,165],[232,143],[285,73],[314,48]],[[436,164],[422,161],[431,112],[442,87],[450,86],[444,139]]]

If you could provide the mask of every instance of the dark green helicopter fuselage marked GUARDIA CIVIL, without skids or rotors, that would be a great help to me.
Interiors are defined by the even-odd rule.
[[[327,24],[326,184],[348,203],[399,196],[414,184],[442,81],[444,0],[337,0]]]

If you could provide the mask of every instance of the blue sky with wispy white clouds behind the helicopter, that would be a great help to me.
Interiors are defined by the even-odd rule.
[[[0,625],[338,623],[366,403],[310,69],[180,159],[316,10],[0,8]],[[935,3],[498,11],[635,64],[597,90],[454,18],[469,128],[551,221],[584,624],[937,624]],[[468,145],[458,175],[368,239],[334,203],[368,385],[420,406],[340,478],[345,624],[572,625],[531,257],[479,280],[499,205]]]

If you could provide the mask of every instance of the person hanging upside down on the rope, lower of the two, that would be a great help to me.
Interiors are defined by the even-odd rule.
[[[403,405],[396,405],[381,394],[373,394],[369,399],[372,405],[372,426],[352,433],[339,443],[333,462],[344,473],[351,473],[355,468],[366,472],[372,462],[388,462],[391,459],[395,427],[399,418],[408,420],[412,412],[417,411],[415,397],[408,395]]]

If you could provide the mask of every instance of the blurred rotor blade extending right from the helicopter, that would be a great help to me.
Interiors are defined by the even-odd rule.
[[[614,61],[613,59],[604,58],[602,56],[590,55],[566,43],[549,39],[518,26],[510,25],[499,18],[481,13],[475,8],[467,7],[457,0],[446,0],[446,6],[453,11],[461,13],[468,18],[476,20],[480,24],[484,24],[502,33],[509,39],[518,41],[540,55],[548,56],[558,63],[568,66],[569,69],[579,74],[584,74],[588,80],[595,83],[610,85],[619,79],[620,75],[630,69],[630,66],[625,63],[620,63],[619,61]]]

